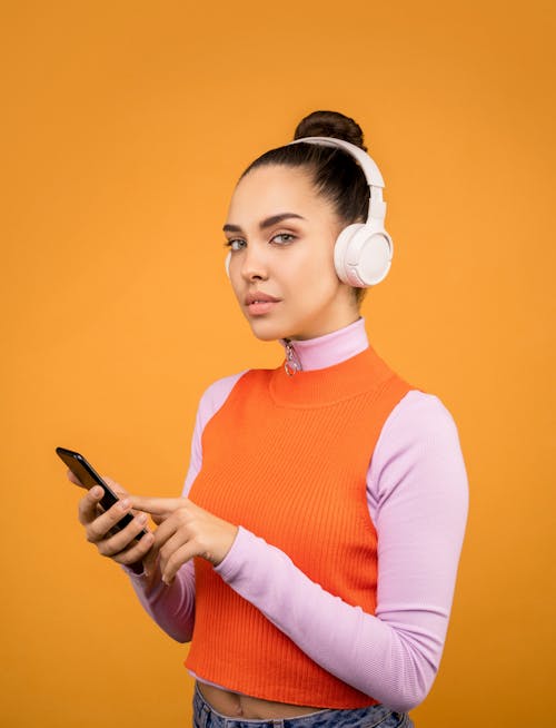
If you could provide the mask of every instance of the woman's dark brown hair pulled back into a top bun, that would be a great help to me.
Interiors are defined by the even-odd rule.
[[[338,111],[314,111],[297,125],[294,139],[334,137],[344,139],[367,151],[363,131],[354,119]],[[270,149],[255,159],[240,179],[257,167],[282,165],[301,167],[311,176],[318,195],[329,201],[345,226],[366,223],[369,210],[369,186],[365,173],[354,157],[339,147],[314,144],[292,144]],[[353,288],[359,306],[366,288]]]

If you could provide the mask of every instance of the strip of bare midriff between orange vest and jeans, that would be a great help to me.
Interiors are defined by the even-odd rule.
[[[230,692],[212,685],[197,681],[197,686],[205,700],[222,716],[228,718],[245,718],[246,720],[272,720],[279,718],[295,718],[309,712],[324,710],[311,706],[295,706],[288,702],[272,702],[261,698]]]

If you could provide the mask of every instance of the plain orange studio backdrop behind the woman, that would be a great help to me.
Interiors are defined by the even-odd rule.
[[[554,6],[322,6],[2,4],[2,726],[188,725],[187,648],[85,541],[53,450],[180,492],[203,388],[281,360],[225,276],[230,193],[318,108],[359,121],[386,180],[369,338],[448,406],[469,475],[413,717],[552,712]]]

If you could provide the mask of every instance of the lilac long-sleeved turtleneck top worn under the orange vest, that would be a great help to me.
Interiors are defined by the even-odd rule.
[[[369,345],[363,317],[325,336],[280,343],[305,371],[332,366]],[[203,427],[246,371],[218,380],[200,399],[183,496],[202,463]],[[423,701],[438,670],[467,521],[458,432],[437,396],[411,390],[389,414],[367,472],[367,504],[378,535],[375,614],[325,591],[241,525],[215,570],[322,668],[405,711]],[[152,619],[173,639],[189,641],[192,561],[169,587],[158,570],[149,578],[126,572]]]

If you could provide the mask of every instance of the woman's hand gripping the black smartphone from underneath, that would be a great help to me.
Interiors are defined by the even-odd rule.
[[[68,479],[76,485],[81,485],[71,471],[68,471]],[[147,533],[136,541],[137,535],[146,527],[148,517],[145,513],[136,513],[131,523],[126,528],[121,531],[112,531],[121,517],[131,511],[131,501],[127,491],[119,483],[110,478],[105,478],[105,480],[121,500],[108,511],[102,511],[99,501],[103,495],[103,490],[100,485],[95,485],[79,501],[79,522],[85,527],[87,540],[97,547],[101,555],[131,567],[133,571],[140,573],[142,571],[141,561],[155,540],[152,533]]]

